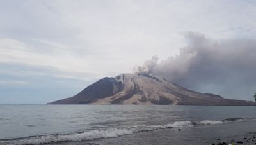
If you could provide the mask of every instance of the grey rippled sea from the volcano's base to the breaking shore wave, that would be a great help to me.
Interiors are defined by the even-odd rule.
[[[256,106],[0,105],[0,144],[86,141],[235,117],[255,121]]]

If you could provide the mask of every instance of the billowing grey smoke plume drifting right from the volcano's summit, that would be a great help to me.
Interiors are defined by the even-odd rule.
[[[203,93],[253,100],[256,93],[256,40],[211,39],[198,32],[184,34],[180,54],[157,62],[157,56],[135,73],[150,73]]]

